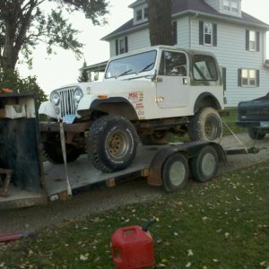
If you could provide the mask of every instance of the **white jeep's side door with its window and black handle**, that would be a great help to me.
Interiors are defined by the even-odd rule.
[[[156,91],[160,108],[187,106],[190,89],[187,70],[185,53],[162,51]]]

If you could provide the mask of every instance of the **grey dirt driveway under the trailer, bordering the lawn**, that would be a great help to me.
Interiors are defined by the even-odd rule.
[[[252,147],[255,143],[248,138],[247,134],[239,134],[239,139],[247,147]],[[241,147],[231,135],[225,136],[221,144],[225,149]],[[261,149],[257,154],[228,156],[228,163],[221,164],[219,175],[269,160],[269,135],[266,135],[264,140],[257,141],[255,146]],[[144,179],[131,180],[113,188],[94,188],[80,195],[74,195],[66,202],[56,201],[43,206],[0,211],[0,233],[5,231],[34,232],[45,226],[90,216],[92,213],[99,213],[122,204],[158,199],[164,194],[161,187],[147,186]]]

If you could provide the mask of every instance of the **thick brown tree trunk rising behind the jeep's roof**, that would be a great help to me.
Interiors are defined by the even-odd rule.
[[[151,45],[173,45],[171,0],[146,0]]]

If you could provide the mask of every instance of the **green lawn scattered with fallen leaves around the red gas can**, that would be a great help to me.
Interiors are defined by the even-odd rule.
[[[114,268],[109,247],[113,232],[142,226],[155,215],[160,222],[150,231],[157,267],[268,268],[268,174],[266,161],[164,194],[158,201],[66,221],[32,239],[0,245],[0,267]]]

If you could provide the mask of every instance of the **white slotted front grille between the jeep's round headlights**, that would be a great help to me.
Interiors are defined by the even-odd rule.
[[[74,103],[74,91],[76,87],[64,88],[58,90],[60,94],[60,108],[61,108],[61,117],[65,115],[75,115],[75,103]]]

